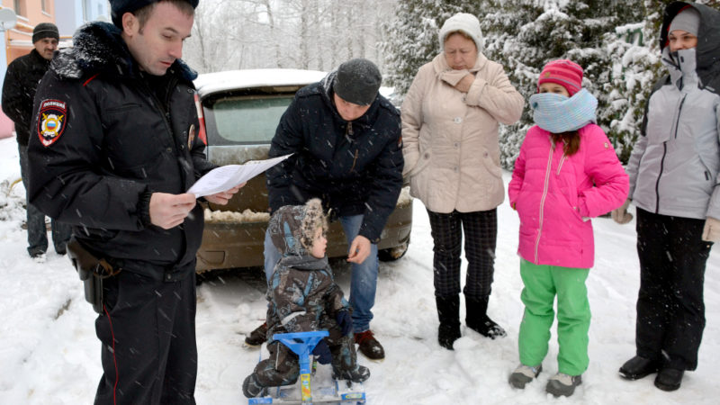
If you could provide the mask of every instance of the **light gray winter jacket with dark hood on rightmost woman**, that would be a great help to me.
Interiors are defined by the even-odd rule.
[[[707,9],[698,11],[703,15],[701,21],[707,22]],[[672,18],[674,15],[666,16],[666,20]],[[701,23],[698,38],[707,38],[716,28]],[[720,174],[720,95],[716,93],[719,89],[698,76],[698,67],[707,65],[704,58],[712,54],[715,60],[720,57],[720,47],[714,46],[712,50],[716,51],[708,52],[699,41],[698,48],[680,49],[672,55],[670,47],[662,50],[670,76],[662,79],[648,101],[644,133],[626,167],[629,195],[645,211],[720,219],[720,187],[716,187]]]

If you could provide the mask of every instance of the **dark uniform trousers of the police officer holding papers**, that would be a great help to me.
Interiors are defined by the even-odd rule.
[[[104,280],[95,320],[103,377],[95,404],[194,404],[195,274],[164,283],[122,271]]]

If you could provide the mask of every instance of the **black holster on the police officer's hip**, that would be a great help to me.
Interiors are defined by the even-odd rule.
[[[85,286],[85,301],[93,304],[93,310],[103,313],[103,280],[120,273],[104,258],[95,257],[87,251],[75,237],[67,242],[67,256],[77,270],[77,275]]]

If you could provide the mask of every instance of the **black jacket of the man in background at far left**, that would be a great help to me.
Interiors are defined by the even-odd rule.
[[[15,123],[17,143],[28,146],[32,100],[50,61],[32,49],[7,67],[3,84],[3,112]]]

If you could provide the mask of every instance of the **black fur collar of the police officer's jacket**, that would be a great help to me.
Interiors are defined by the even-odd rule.
[[[137,74],[137,64],[121,37],[121,31],[111,23],[87,23],[73,35],[73,46],[61,49],[52,58],[50,70],[64,79],[80,79],[97,73],[112,76]],[[176,59],[169,71],[178,72],[188,82],[197,72],[182,59]]]

